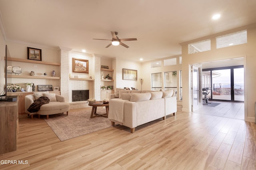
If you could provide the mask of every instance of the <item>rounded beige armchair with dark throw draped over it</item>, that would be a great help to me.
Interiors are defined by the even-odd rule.
[[[56,100],[55,100],[56,98]],[[54,100],[50,103],[44,104],[40,107],[39,111],[30,113],[28,111],[28,107],[36,100],[34,94],[29,94],[25,96],[25,110],[28,115],[31,115],[31,118],[33,119],[34,114],[38,114],[38,117],[40,118],[40,115],[46,115],[46,119],[49,119],[49,115],[57,114],[57,113],[64,113],[69,111],[69,103],[65,102],[65,98],[63,96],[60,96],[58,94],[55,94]]]

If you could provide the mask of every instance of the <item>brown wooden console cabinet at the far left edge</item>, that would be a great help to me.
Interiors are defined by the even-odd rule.
[[[18,137],[18,99],[0,102],[0,154],[16,150]]]

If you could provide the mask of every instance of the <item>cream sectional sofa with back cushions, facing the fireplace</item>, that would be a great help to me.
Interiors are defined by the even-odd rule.
[[[177,99],[173,96],[173,90],[166,92],[127,91],[130,92],[119,91],[119,98],[110,100],[108,119],[112,125],[116,123],[130,127],[131,133],[134,133],[139,125],[159,118],[166,119],[166,115],[171,113],[175,115],[177,111]]]

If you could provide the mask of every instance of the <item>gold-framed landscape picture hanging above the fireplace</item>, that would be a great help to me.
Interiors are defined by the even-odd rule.
[[[89,73],[89,61],[84,59],[75,59],[73,60],[73,72],[82,72],[82,73]]]

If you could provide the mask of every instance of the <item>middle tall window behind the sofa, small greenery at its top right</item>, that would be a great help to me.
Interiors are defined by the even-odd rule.
[[[164,90],[177,91],[177,71],[164,72]]]

